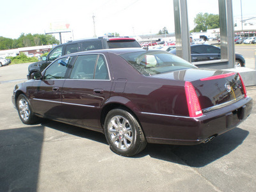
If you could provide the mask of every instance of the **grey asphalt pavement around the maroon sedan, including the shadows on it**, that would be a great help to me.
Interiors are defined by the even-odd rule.
[[[104,135],[45,120],[24,125],[11,102],[28,63],[0,68],[0,191],[255,191],[256,106],[207,144],[152,145],[134,157]],[[247,87],[256,100],[256,87]]]

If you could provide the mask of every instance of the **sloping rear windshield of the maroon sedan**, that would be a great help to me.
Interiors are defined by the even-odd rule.
[[[185,68],[197,68],[188,61],[166,51],[129,52],[120,54],[120,56],[144,76],[154,76]]]

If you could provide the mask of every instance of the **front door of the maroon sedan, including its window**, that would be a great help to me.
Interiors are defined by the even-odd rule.
[[[35,113],[48,118],[61,118],[61,89],[70,61],[71,57],[54,61],[45,70],[42,80],[35,80],[31,87]]]

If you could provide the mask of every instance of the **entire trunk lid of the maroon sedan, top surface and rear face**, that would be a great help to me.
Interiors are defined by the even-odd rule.
[[[189,68],[154,77],[191,82],[203,113],[236,102],[246,95],[243,80],[236,72]]]

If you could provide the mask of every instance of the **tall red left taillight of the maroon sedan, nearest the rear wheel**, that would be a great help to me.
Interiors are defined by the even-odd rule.
[[[192,83],[186,81],[185,82],[185,92],[188,103],[188,111],[190,117],[198,117],[202,116],[202,109],[196,95],[195,88]]]

